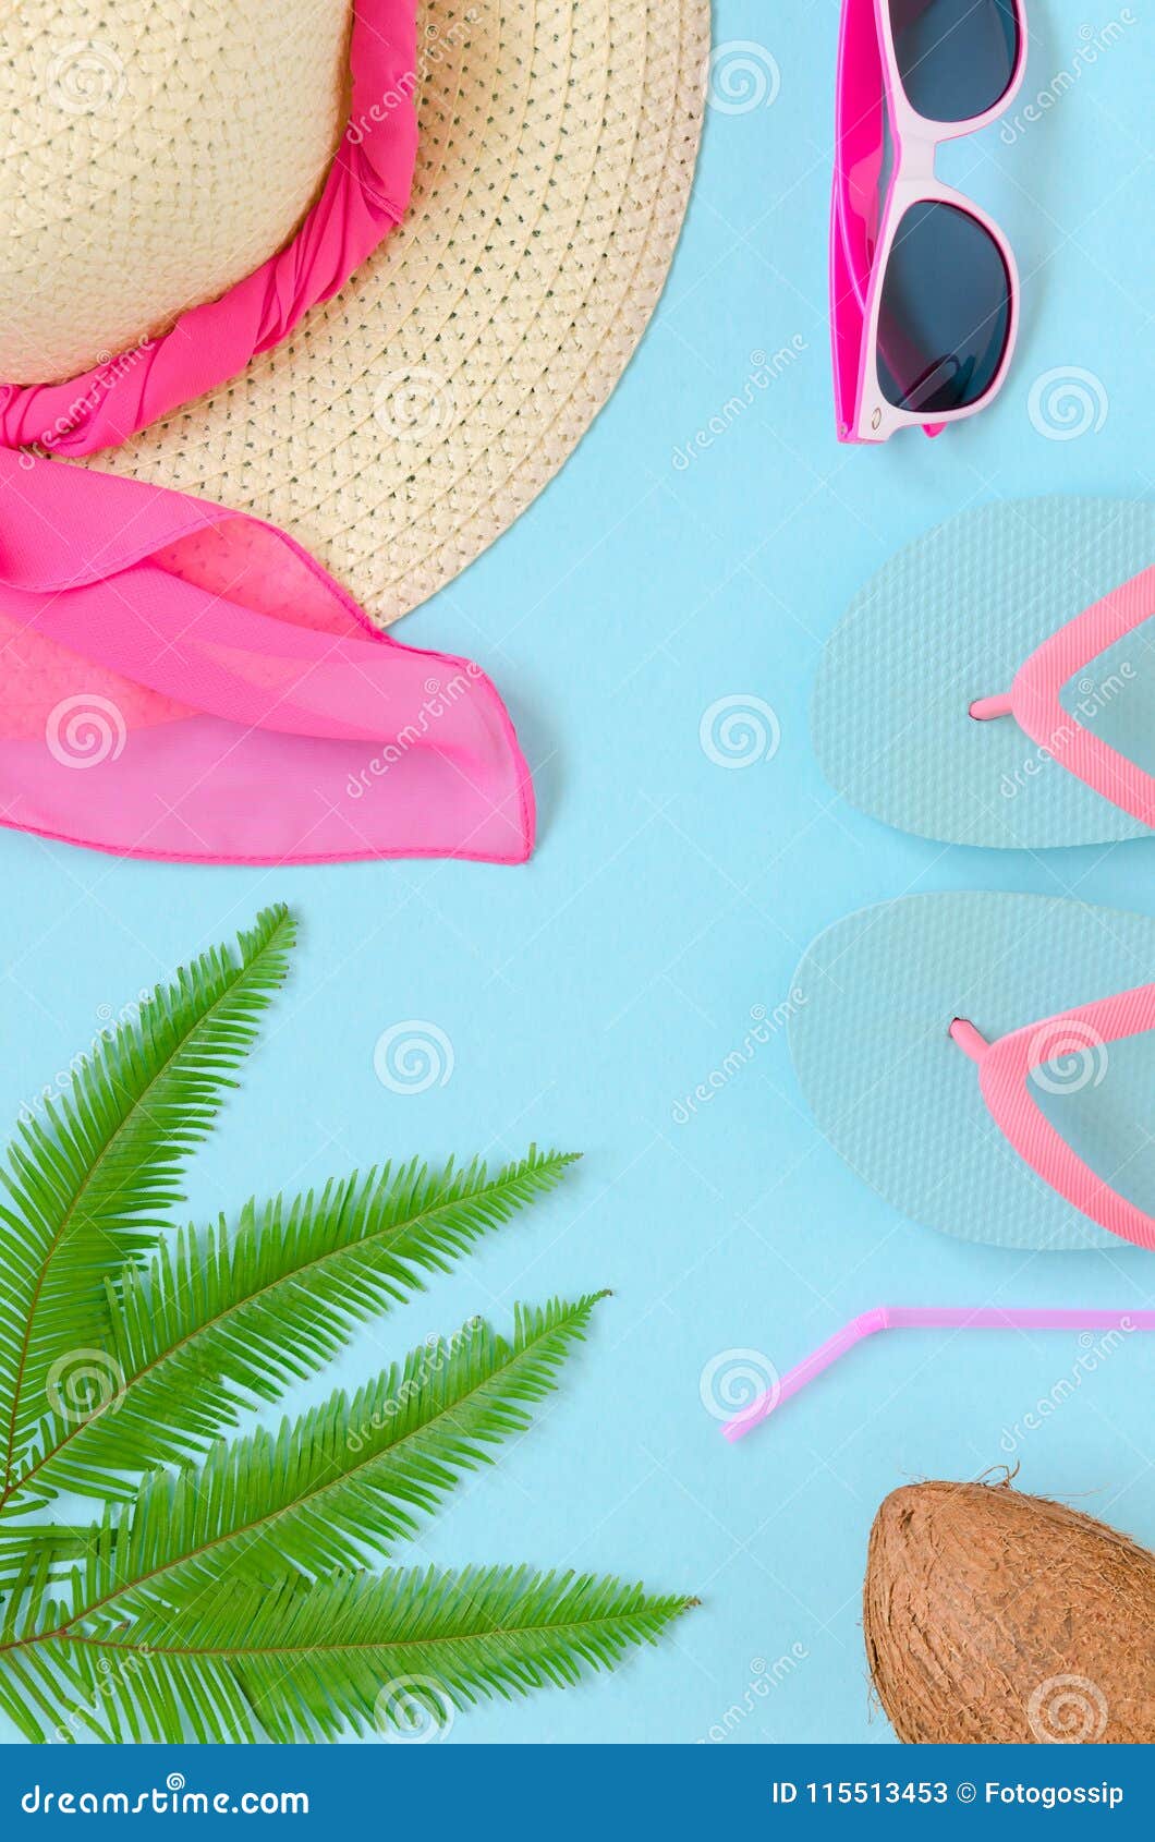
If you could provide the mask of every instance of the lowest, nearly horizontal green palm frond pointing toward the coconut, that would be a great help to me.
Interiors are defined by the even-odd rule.
[[[615,1579],[525,1568],[333,1575],[302,1586],[221,1580],[101,1636],[44,1636],[0,1654],[0,1700],[28,1726],[31,1689],[105,1739],[333,1739],[448,1724],[483,1696],[566,1685],[652,1643],[693,1601]],[[18,1671],[22,1695],[4,1685]],[[111,1687],[112,1685],[112,1687]],[[35,1737],[35,1735],[29,1735]]]

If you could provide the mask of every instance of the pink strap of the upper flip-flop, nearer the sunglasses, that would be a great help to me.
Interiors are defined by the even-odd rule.
[[[1127,761],[1063,707],[1063,685],[1109,647],[1155,615],[1155,567],[1111,589],[1092,608],[1044,639],[1015,674],[1004,696],[978,698],[971,715],[980,722],[1013,717],[1032,742],[1096,794],[1142,825],[1155,827],[1155,775]]]

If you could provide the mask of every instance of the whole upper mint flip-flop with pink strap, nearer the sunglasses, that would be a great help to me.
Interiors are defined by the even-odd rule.
[[[1155,827],[1155,507],[1009,499],[893,556],[831,637],[814,746],[862,812],[1046,849]]]

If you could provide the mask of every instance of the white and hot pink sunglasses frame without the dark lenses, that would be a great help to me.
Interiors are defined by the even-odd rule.
[[[939,435],[949,422],[973,416],[998,394],[1019,332],[1019,269],[1006,236],[973,199],[934,177],[934,157],[947,140],[974,134],[1009,107],[1026,68],[1026,11],[1015,0],[1019,50],[1002,96],[965,122],[921,116],[903,88],[888,0],[844,0],[838,31],[834,114],[834,186],[831,195],[831,343],[834,413],[840,442],[886,442],[895,429]],[[879,206],[879,181],[890,127],[892,168]],[[978,223],[1002,258],[1008,278],[1008,332],[989,387],[974,403],[927,414],[899,409],[879,385],[879,311],[882,278],[899,227],[912,204],[951,204]]]

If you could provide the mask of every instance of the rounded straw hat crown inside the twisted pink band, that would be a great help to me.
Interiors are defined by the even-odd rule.
[[[293,236],[341,134],[352,0],[0,15],[0,379],[72,378]]]

